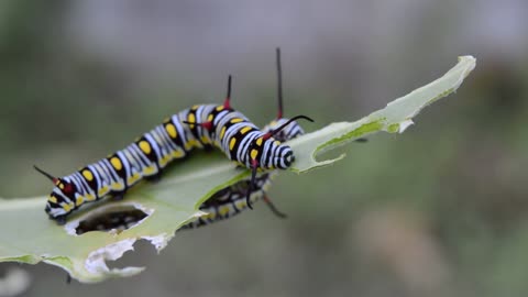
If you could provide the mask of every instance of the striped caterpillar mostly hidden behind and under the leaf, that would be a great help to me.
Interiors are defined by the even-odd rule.
[[[274,139],[279,142],[286,142],[293,140],[299,135],[302,135],[305,131],[296,121],[289,121],[287,118],[283,118],[283,87],[282,87],[282,66],[280,66],[280,50],[276,48],[276,66],[277,66],[277,99],[278,99],[278,112],[277,118],[270,124],[262,129],[263,132],[272,132],[277,130],[285,123],[288,123],[279,132],[274,134]],[[250,191],[250,201],[255,202],[263,199],[270,207],[273,213],[279,218],[286,218],[286,215],[280,212],[266,195],[266,190],[271,185],[271,179],[276,173],[267,172],[255,177],[252,183],[251,179],[243,179],[229,187],[226,187],[215,193],[208,200],[206,200],[199,209],[207,212],[206,216],[198,218],[197,220],[184,224],[179,230],[193,229],[204,227],[217,221],[229,219],[241,213],[248,209],[246,204],[248,191]]]

